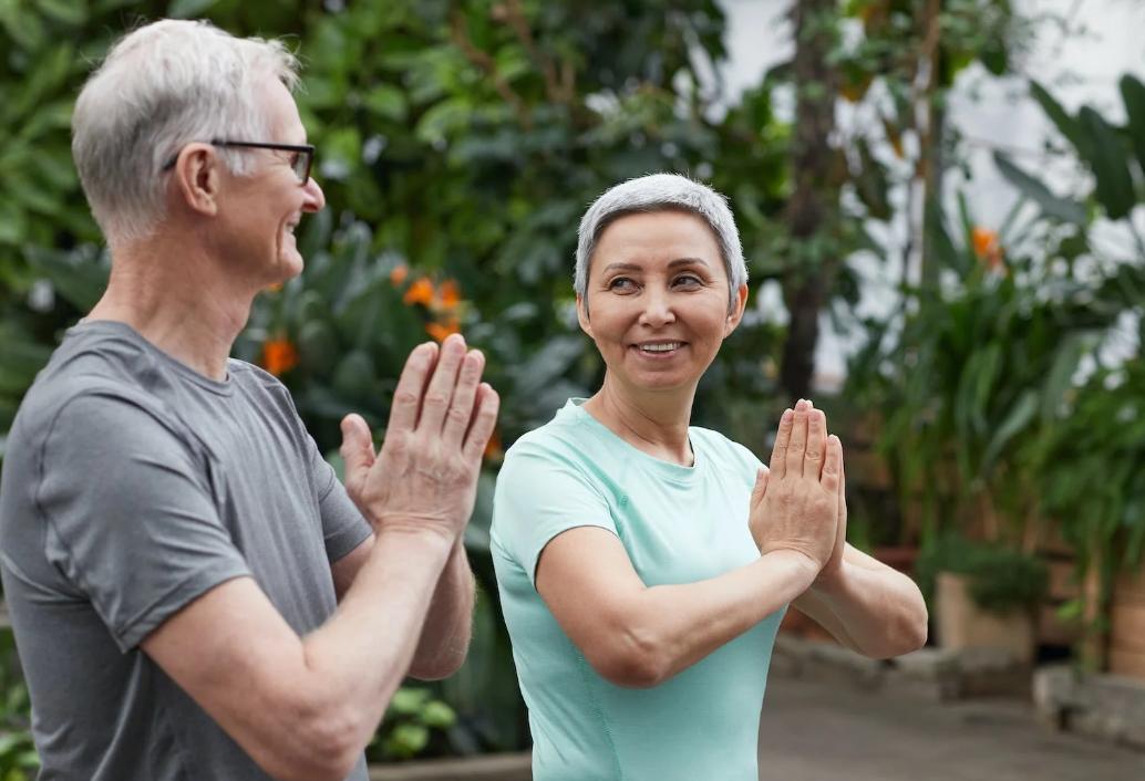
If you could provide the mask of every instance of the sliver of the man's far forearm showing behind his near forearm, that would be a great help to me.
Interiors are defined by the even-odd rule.
[[[459,539],[434,590],[410,666],[411,676],[436,680],[461,667],[473,633],[473,572]]]

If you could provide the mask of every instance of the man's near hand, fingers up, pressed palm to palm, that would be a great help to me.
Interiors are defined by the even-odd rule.
[[[481,382],[484,362],[457,335],[440,350],[432,343],[414,349],[377,457],[365,421],[342,420],[346,491],[377,533],[431,531],[455,540],[465,528],[499,404]]]

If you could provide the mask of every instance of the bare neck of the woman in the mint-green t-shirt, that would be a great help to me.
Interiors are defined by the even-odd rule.
[[[695,388],[687,391],[647,393],[629,389],[605,375],[584,411],[634,448],[684,467],[695,462],[688,441],[688,423]]]

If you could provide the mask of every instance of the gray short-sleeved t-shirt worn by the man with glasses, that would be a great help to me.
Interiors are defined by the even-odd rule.
[[[252,576],[299,635],[337,606],[330,565],[370,535],[290,393],[242,361],[213,382],[124,324],[68,332],[13,424],[0,574],[41,781],[263,781],[140,648]],[[349,776],[365,781],[365,760]]]

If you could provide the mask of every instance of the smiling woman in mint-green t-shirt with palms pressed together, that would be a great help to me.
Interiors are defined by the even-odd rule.
[[[579,237],[605,381],[508,451],[492,525],[534,778],[756,781],[787,607],[878,658],[923,644],[926,608],[846,544],[842,445],[810,403],[783,413],[769,471],[689,425],[748,298],[724,198],[646,176],[601,196]]]

